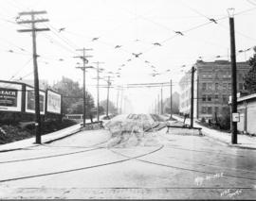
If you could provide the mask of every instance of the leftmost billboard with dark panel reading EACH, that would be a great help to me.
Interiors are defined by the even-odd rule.
[[[0,110],[22,110],[22,84],[0,82]]]

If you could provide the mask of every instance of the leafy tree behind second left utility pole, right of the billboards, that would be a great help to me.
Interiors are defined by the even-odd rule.
[[[63,95],[63,112],[64,113],[82,113],[82,88],[79,82],[75,82],[70,78],[62,77],[53,85],[53,90]],[[94,108],[94,100],[90,92],[85,92],[86,97],[86,117],[89,116],[90,110]]]

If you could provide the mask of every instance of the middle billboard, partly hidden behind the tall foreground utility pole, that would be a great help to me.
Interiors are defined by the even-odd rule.
[[[45,114],[46,92],[39,91],[40,113]],[[35,113],[34,88],[26,86],[26,112]]]

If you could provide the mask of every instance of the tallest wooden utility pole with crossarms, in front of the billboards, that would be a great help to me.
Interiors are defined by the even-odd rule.
[[[33,48],[33,66],[34,66],[34,100],[35,100],[35,143],[41,143],[41,117],[40,117],[40,97],[39,97],[39,79],[37,66],[37,50],[36,50],[36,32],[49,31],[49,28],[37,28],[37,23],[48,22],[48,19],[35,19],[36,15],[46,14],[46,11],[28,11],[20,12],[19,17],[30,15],[30,20],[18,21],[17,24],[30,24],[30,29],[20,29],[18,32],[32,32],[32,48]]]

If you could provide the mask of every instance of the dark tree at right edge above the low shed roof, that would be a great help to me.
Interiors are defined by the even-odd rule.
[[[245,88],[251,94],[256,92],[256,46],[253,48],[254,55],[249,59],[251,66],[245,77]]]

